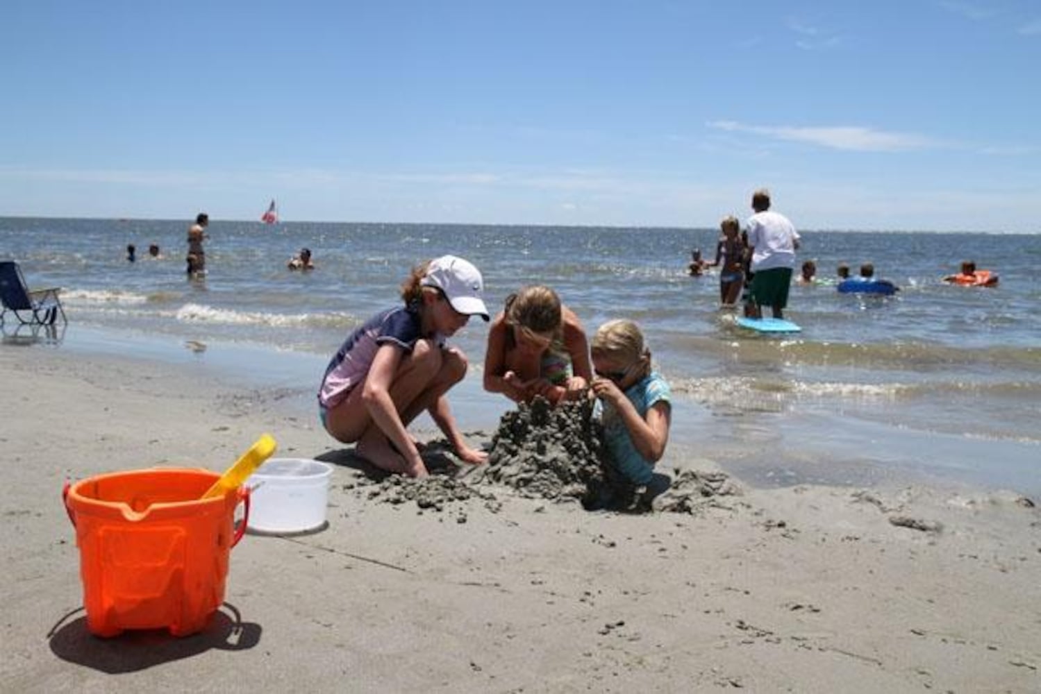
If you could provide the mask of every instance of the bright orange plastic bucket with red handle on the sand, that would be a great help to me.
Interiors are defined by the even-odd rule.
[[[169,628],[174,636],[187,636],[206,626],[224,601],[228,555],[250,514],[247,487],[199,499],[220,477],[167,468],[66,485],[92,634]],[[236,530],[239,502],[246,510]]]

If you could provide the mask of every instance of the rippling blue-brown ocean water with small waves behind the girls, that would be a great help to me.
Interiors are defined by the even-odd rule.
[[[692,248],[712,258],[711,229],[213,220],[208,275],[188,280],[187,226],[0,217],[0,257],[18,260],[30,285],[62,287],[70,327],[52,340],[58,349],[87,333],[239,348],[298,358],[316,388],[346,334],[398,303],[412,264],[454,253],[481,268],[493,310],[541,283],[590,333],[614,317],[638,322],[674,387],[674,438],[753,482],[913,473],[1041,491],[1041,235],[801,231],[799,259],[815,259],[818,277],[870,261],[902,290],[795,285],[786,316],[803,332],[766,337],[720,308],[716,275],[687,276]],[[131,242],[134,263],[125,259]],[[160,259],[148,258],[149,243]],[[305,246],[318,269],[287,271]],[[940,281],[965,259],[997,273],[999,286]],[[8,343],[24,336],[9,323],[3,330]],[[505,401],[479,391],[485,338],[474,319],[455,342],[475,367],[467,400],[488,399],[494,407],[475,410],[490,416]]]

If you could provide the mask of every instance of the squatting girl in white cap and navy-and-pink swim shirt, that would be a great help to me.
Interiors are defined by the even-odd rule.
[[[427,474],[406,427],[427,410],[466,463],[484,462],[456,427],[446,393],[466,375],[466,357],[446,344],[472,315],[488,319],[484,282],[473,264],[441,256],[412,269],[404,306],[377,313],[333,355],[319,390],[322,423],[377,467]]]

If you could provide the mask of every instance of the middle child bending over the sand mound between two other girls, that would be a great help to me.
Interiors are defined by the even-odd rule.
[[[585,330],[557,292],[531,286],[506,298],[488,329],[485,390],[515,403],[541,395],[557,404],[581,395],[591,379]]]

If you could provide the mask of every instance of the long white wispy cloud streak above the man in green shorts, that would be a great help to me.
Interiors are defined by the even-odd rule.
[[[710,128],[728,132],[747,132],[786,142],[809,143],[833,150],[854,152],[905,152],[937,147],[938,143],[922,135],[885,132],[860,126],[795,127],[756,126],[734,121],[712,121]]]

